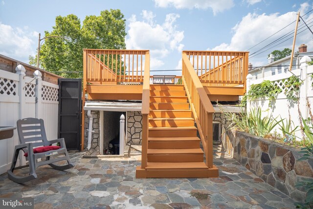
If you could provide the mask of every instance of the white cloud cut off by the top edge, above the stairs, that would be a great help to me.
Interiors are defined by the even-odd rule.
[[[155,2],[158,7],[174,6],[177,9],[211,8],[214,15],[234,6],[233,0],[155,0]]]

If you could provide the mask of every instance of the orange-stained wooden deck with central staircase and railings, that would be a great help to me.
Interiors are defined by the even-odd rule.
[[[88,100],[141,100],[137,178],[217,177],[211,101],[244,95],[247,70],[248,52],[183,51],[182,73],[167,83],[150,74],[149,50],[84,49],[83,95]]]

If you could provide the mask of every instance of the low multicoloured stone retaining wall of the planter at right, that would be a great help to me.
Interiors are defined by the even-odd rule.
[[[233,158],[269,185],[296,201],[304,202],[305,190],[295,185],[313,178],[313,159],[299,161],[298,149],[245,132],[226,131],[224,149]]]

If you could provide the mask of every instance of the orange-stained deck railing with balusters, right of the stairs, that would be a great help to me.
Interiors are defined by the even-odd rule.
[[[205,86],[245,85],[248,53],[236,51],[183,51]],[[245,86],[246,87],[246,86]]]

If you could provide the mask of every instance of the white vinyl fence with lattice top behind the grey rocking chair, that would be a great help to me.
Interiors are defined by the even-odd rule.
[[[16,73],[0,70],[0,126],[16,126],[18,119],[26,117],[42,118],[47,139],[56,139],[58,91],[58,85],[42,81],[39,70],[34,72],[34,76],[25,76],[22,65],[16,68]],[[11,166],[14,146],[19,143],[16,129],[12,138],[0,140],[0,174]],[[23,164],[24,160],[17,166]]]

